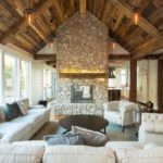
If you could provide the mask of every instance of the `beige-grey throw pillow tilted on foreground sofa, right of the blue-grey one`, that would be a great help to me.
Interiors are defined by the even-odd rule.
[[[104,146],[109,138],[99,131],[89,130],[78,126],[72,126],[72,131],[74,134],[80,134],[84,138],[85,145],[93,147]]]

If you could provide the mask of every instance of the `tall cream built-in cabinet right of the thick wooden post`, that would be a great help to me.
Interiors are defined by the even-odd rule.
[[[158,61],[141,60],[137,64],[137,101],[152,101],[158,108]]]

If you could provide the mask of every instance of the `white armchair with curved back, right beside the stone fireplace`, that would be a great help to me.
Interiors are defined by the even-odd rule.
[[[129,101],[111,101],[103,103],[103,116],[109,122],[124,127],[136,123],[136,110],[138,105]]]

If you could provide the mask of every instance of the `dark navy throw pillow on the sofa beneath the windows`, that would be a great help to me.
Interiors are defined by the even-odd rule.
[[[16,102],[13,102],[13,103],[7,103],[7,108],[5,108],[5,118],[7,121],[11,121],[15,117],[17,117],[20,115],[20,112],[18,112],[18,105]]]

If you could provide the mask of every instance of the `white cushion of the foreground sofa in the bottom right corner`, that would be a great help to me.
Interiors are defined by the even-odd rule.
[[[162,163],[163,147],[151,150],[120,149],[115,151],[118,163]]]

